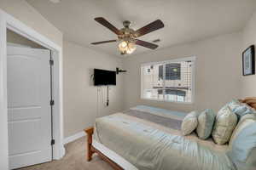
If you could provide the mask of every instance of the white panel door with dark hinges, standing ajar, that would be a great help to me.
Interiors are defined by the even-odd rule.
[[[7,48],[9,168],[52,160],[50,52]]]

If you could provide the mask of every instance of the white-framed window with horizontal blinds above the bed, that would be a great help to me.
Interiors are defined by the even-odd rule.
[[[195,57],[143,64],[142,98],[193,102]]]

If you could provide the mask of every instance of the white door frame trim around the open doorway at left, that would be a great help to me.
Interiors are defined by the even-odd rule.
[[[33,42],[49,48],[52,51],[52,58],[55,63],[53,66],[53,137],[55,144],[53,145],[53,159],[59,160],[65,155],[63,144],[63,84],[62,84],[62,48],[44,37],[38,31],[26,26],[20,20],[16,20],[10,14],[0,9],[0,133],[3,139],[0,144],[6,145],[8,148],[8,111],[7,111],[7,39],[6,30],[15,31],[22,37],[26,37]],[[50,142],[50,141],[49,141]],[[3,150],[4,151],[4,150]],[[7,153],[8,154],[8,150]]]

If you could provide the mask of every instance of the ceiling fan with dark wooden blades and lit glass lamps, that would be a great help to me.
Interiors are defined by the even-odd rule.
[[[105,20],[102,17],[97,17],[94,20],[96,20],[102,26],[107,27],[110,31],[113,31],[113,33],[115,33],[118,36],[118,39],[102,41],[102,42],[91,42],[91,44],[97,45],[97,44],[108,43],[108,42],[119,42],[118,47],[121,54],[133,53],[136,49],[136,45],[140,45],[140,46],[143,46],[144,48],[150,48],[150,49],[158,48],[158,45],[151,42],[144,42],[143,40],[137,39],[137,37],[142,37],[143,35],[148,34],[149,32],[156,31],[164,27],[164,24],[161,20],[155,20],[154,22],[151,22],[147,26],[143,26],[137,31],[134,31],[133,29],[130,28],[131,22],[129,20],[125,20],[123,22],[123,26],[125,27],[119,30],[115,26],[113,26],[111,23],[109,23],[108,20]]]

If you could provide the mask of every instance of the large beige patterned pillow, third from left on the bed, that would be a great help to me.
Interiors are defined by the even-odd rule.
[[[237,124],[237,116],[230,110],[229,106],[224,106],[218,111],[212,130],[212,139],[216,144],[225,144],[230,140],[233,130]]]

